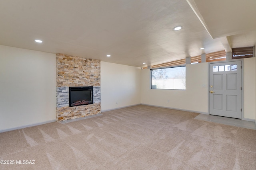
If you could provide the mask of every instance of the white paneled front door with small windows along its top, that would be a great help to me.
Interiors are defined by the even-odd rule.
[[[210,64],[210,115],[241,119],[241,61]]]

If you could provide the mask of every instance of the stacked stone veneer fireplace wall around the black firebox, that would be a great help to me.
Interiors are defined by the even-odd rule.
[[[68,120],[101,112],[100,60],[56,55],[56,120]],[[93,86],[93,104],[69,107],[69,87]]]

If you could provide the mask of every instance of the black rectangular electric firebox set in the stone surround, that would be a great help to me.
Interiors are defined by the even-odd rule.
[[[93,104],[93,87],[69,87],[69,107]]]

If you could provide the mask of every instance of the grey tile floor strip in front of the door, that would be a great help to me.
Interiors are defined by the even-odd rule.
[[[247,128],[247,129],[256,130],[256,125],[255,125],[255,122],[253,122],[253,121],[246,121],[246,120],[234,119],[234,118],[230,118],[230,117],[204,115],[204,114],[200,114],[200,115],[196,116],[194,119],[211,121],[214,123],[220,123],[220,124],[224,124],[224,125],[231,125],[231,126],[243,127],[243,128]]]

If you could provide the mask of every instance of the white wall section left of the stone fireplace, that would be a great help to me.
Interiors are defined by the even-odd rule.
[[[56,55],[0,45],[0,131],[56,119]]]

